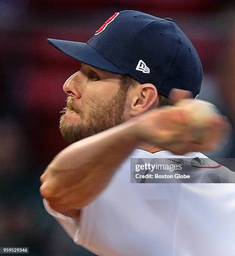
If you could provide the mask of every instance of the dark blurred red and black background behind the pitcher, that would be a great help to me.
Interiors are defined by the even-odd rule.
[[[86,42],[107,18],[140,10],[173,18],[204,68],[199,98],[235,128],[235,6],[226,0],[0,0],[0,246],[31,255],[92,255],[45,212],[40,175],[67,143],[58,129],[62,84],[79,69],[47,38]],[[125,29],[125,28],[123,28]],[[234,157],[234,133],[213,157]]]

